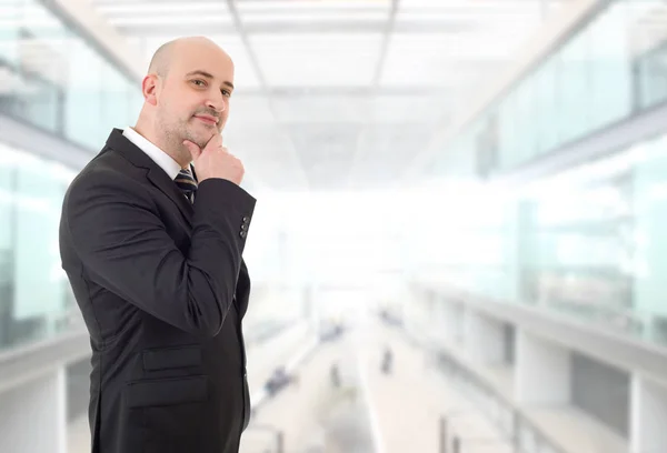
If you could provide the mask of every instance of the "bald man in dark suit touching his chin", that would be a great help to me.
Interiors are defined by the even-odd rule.
[[[69,187],[60,254],[90,333],[92,453],[232,453],[250,416],[242,260],[256,200],[222,145],[233,63],[162,46],[137,124]]]

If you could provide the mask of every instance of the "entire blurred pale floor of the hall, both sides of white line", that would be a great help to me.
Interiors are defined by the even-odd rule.
[[[390,374],[380,370],[387,346],[394,352]],[[257,358],[268,361],[271,351],[282,350],[277,342]],[[335,363],[340,370],[339,387],[330,380]],[[508,443],[487,419],[430,363],[399,331],[376,322],[361,324],[339,340],[322,343],[298,369],[297,383],[256,411],[240,453],[276,453],[278,432],[283,453],[436,453],[439,420],[446,413],[455,414],[449,429],[467,442],[467,453],[509,453]],[[261,369],[259,363],[256,368]],[[258,385],[256,381],[255,391]],[[83,417],[70,426],[69,453],[90,450],[87,423]]]

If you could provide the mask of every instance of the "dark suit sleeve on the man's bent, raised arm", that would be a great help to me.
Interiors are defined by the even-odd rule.
[[[243,189],[222,179],[201,182],[186,254],[137,182],[89,174],[66,203],[74,251],[92,281],[183,331],[220,331],[241,268],[241,224],[256,203]]]

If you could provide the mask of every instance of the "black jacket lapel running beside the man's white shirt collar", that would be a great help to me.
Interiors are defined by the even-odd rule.
[[[158,188],[165,195],[167,195],[183,214],[183,218],[188,222],[188,226],[192,226],[192,204],[183,197],[182,192],[176,185],[176,183],[169,178],[169,175],[162,170],[152,159],[150,159],[143,151],[141,151],[135,143],[129,141],[120,129],[113,129],[109,139],[107,139],[107,145],[111,149],[120,152],[135,165],[147,169],[147,178],[151,184]]]

